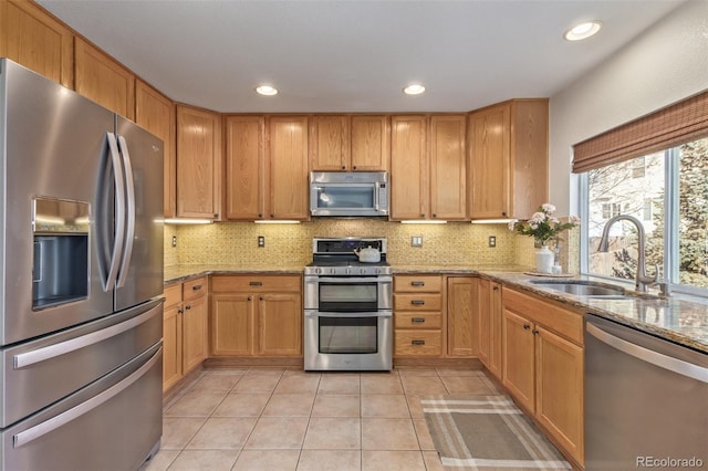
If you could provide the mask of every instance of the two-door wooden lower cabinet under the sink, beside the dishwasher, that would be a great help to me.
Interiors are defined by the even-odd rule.
[[[503,291],[502,384],[577,464],[583,449],[582,315]]]

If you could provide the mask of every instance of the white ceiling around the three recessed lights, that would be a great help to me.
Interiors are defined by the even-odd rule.
[[[174,101],[356,113],[552,96],[684,0],[38,1]],[[562,39],[591,19],[597,35]],[[426,93],[404,95],[410,82]]]

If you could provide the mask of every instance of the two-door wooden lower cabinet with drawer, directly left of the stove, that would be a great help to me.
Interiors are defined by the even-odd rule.
[[[211,280],[211,355],[302,355],[302,279],[218,275]]]

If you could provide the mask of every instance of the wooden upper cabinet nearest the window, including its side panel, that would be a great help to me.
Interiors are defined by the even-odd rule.
[[[470,114],[471,219],[527,219],[548,201],[548,122],[545,98]]]

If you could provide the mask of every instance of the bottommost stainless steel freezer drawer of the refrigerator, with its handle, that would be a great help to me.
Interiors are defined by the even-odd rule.
[[[2,431],[3,470],[136,470],[162,437],[162,342]]]

